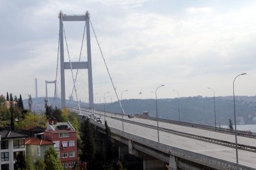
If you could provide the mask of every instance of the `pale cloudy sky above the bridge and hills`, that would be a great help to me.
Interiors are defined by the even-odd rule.
[[[38,96],[45,96],[45,80],[56,78],[60,11],[89,12],[119,98],[232,96],[244,72],[235,95],[256,95],[254,0],[1,0],[1,94],[34,97],[37,78]],[[64,28],[77,61],[84,23]],[[95,98],[109,92],[116,100],[92,29],[91,56]],[[67,97],[72,79],[65,83]],[[53,96],[53,85],[48,89]]]

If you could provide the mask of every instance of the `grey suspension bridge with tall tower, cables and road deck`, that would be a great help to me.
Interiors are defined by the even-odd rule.
[[[60,32],[58,41],[58,59],[54,81],[53,104],[64,109],[73,108],[78,114],[91,114],[92,111],[108,121],[113,139],[123,143],[119,155],[129,153],[143,159],[143,169],[255,169],[256,136],[239,134],[238,143],[234,143],[234,133],[221,129],[191,125],[185,122],[168,122],[167,120],[132,118],[129,119],[122,109],[114,82],[104,59],[99,41],[90,20],[89,12],[82,16],[59,14]],[[84,22],[80,52],[76,59],[71,58],[71,50],[65,31],[67,22]],[[91,34],[96,39],[102,61],[119,101],[122,114],[96,111],[93,103],[93,67],[91,55]],[[69,70],[69,72],[65,72]],[[72,85],[65,87],[65,74],[71,74]],[[70,94],[67,100],[66,94]],[[47,94],[48,95],[48,94]],[[91,122],[99,131],[104,124],[95,120]],[[157,135],[158,134],[158,135]],[[237,144],[237,145],[236,145]],[[239,149],[236,154],[236,149]],[[236,161],[239,158],[239,162]]]

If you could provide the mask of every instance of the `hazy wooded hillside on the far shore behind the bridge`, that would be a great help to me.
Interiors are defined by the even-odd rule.
[[[237,124],[256,124],[256,96],[236,96],[235,107]],[[52,103],[52,98],[49,99]],[[68,102],[68,101],[67,101]],[[27,100],[23,100],[26,107]],[[59,103],[59,100],[56,101]],[[227,125],[228,120],[234,122],[233,96],[220,96],[215,98],[216,125]],[[73,105],[77,105],[73,101]],[[80,103],[82,107],[85,103]],[[121,113],[119,102],[106,103],[106,111]],[[130,99],[122,100],[125,114],[142,114],[148,111],[149,115],[156,117],[155,99]],[[104,103],[95,104],[95,109],[104,111]],[[157,112],[159,118],[178,120],[178,98],[157,99]],[[32,110],[44,112],[43,98],[33,98]],[[214,102],[213,98],[202,96],[180,98],[180,121],[214,125]]]

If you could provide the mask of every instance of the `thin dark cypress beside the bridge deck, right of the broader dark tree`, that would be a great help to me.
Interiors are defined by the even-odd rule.
[[[106,146],[106,160],[108,163],[112,160],[112,142],[111,142],[111,131],[108,123],[105,121],[105,146]]]

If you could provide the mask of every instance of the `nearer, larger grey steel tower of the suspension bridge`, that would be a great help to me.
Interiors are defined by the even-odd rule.
[[[93,76],[91,67],[91,39],[89,26],[89,12],[82,16],[67,16],[60,12],[60,85],[62,109],[65,109],[65,69],[87,69],[88,90],[89,90],[89,109],[93,109]],[[64,21],[86,21],[87,38],[87,61],[64,62]]]

